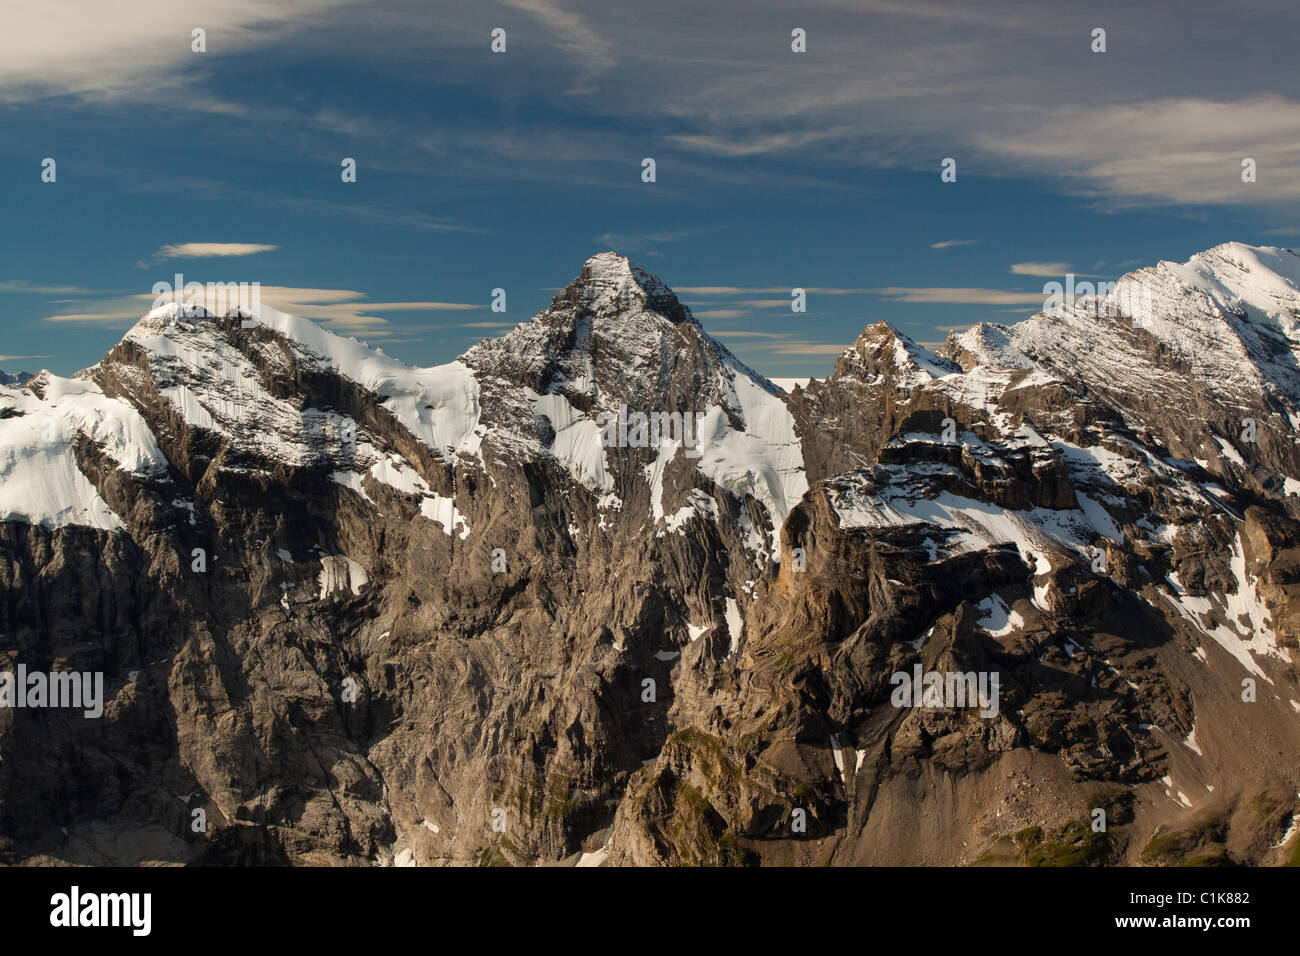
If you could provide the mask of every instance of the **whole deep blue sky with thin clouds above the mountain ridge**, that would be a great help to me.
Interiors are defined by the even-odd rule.
[[[1300,245],[1292,3],[1054,7],[9,4],[0,369],[98,362],[177,272],[447,362],[612,248],[824,375],[881,319],[937,342],[1066,269]]]

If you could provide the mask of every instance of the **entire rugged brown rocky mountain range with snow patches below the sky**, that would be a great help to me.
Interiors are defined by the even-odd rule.
[[[789,394],[614,254],[436,368],[156,310],[0,386],[0,671],[104,675],[0,860],[1295,862],[1297,356],[1236,243]]]

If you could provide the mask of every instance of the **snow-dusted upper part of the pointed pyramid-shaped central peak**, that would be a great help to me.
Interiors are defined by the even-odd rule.
[[[494,410],[488,440],[556,458],[593,493],[610,493],[620,472],[644,471],[644,463],[629,470],[625,457],[602,446],[602,414],[698,419],[690,457],[671,442],[655,450],[651,518],[666,519],[679,507],[664,502],[663,473],[681,454],[718,486],[759,501],[771,542],[754,529],[753,550],[779,551],[780,523],[807,489],[781,390],[712,339],[663,281],[625,256],[592,256],[549,308],[478,343],[463,362]],[[537,427],[541,420],[549,427]]]

